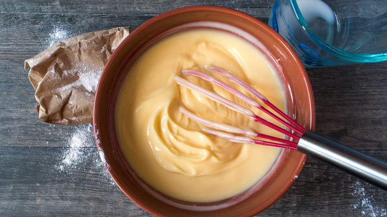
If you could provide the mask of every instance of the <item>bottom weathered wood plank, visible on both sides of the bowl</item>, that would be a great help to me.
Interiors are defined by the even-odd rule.
[[[71,149],[0,148],[0,215],[150,216],[112,183],[95,147],[79,148],[78,158],[66,164]],[[387,151],[368,154],[386,158]],[[262,216],[382,216],[386,196],[310,158],[291,189]]]

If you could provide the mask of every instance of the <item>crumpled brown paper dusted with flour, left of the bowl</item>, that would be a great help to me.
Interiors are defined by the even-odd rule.
[[[25,60],[35,88],[39,118],[55,124],[93,121],[93,101],[102,70],[129,27],[89,32],[64,39]]]

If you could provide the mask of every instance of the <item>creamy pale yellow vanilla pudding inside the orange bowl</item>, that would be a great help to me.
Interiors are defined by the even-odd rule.
[[[117,100],[117,136],[129,164],[152,188],[188,202],[220,201],[246,191],[270,175],[280,155],[279,148],[205,134],[179,111],[184,106],[207,119],[282,136],[174,80],[183,69],[210,73],[210,65],[232,72],[285,109],[283,86],[265,54],[241,37],[210,29],[182,31],[150,46],[129,69]],[[249,107],[216,85],[187,79]]]

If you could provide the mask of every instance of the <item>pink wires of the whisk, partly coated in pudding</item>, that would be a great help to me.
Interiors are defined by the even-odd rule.
[[[227,90],[228,92],[234,94],[235,96],[237,96],[238,98],[240,98],[244,102],[248,103],[249,105],[262,110],[264,113],[268,114],[269,116],[273,117],[275,120],[284,124],[290,130],[292,130],[298,134],[301,134],[301,135],[305,132],[304,127],[299,125],[295,120],[293,120],[288,115],[286,115],[283,111],[281,111],[280,109],[275,107],[273,104],[271,104],[265,96],[263,96],[256,89],[254,89],[252,86],[250,86],[249,84],[247,84],[246,82],[244,82],[240,78],[236,77],[235,75],[231,74],[228,71],[225,71],[225,70],[217,68],[217,67],[211,66],[208,68],[208,70],[228,77],[231,81],[233,81],[234,83],[236,83],[240,87],[244,88],[247,92],[249,92],[250,94],[255,96],[261,103],[263,103],[264,105],[266,105],[267,107],[269,107],[270,109],[275,111],[277,114],[279,114],[279,116],[281,116],[283,119],[281,117],[275,115],[273,112],[269,111],[268,109],[264,108],[257,101],[251,99],[250,97],[246,96],[245,94],[241,93],[240,91],[236,90],[235,88],[231,87],[230,85],[228,85],[228,84],[226,84],[226,83],[224,83],[224,82],[222,82],[222,81],[220,81],[220,80],[218,80],[218,79],[216,79],[208,74],[194,71],[194,70],[188,70],[188,69],[183,70],[182,74],[185,76],[187,76],[187,75],[196,76],[196,77],[199,77],[201,79],[212,82],[212,83],[222,87],[223,89]],[[264,124],[272,129],[274,129],[274,130],[277,130],[277,131],[279,131],[279,132],[281,132],[281,133],[283,133],[291,138],[294,138],[296,140],[300,139],[299,136],[293,134],[292,132],[289,132],[289,131],[259,117],[252,110],[247,109],[241,105],[238,105],[238,104],[236,104],[236,103],[234,103],[234,102],[232,102],[232,101],[230,101],[222,96],[219,96],[219,95],[217,95],[217,94],[215,94],[215,93],[213,93],[205,88],[202,88],[199,85],[196,85],[196,84],[194,84],[194,83],[192,83],[192,82],[190,82],[190,81],[188,81],[180,76],[175,76],[175,81],[179,85],[184,86],[188,89],[194,90],[194,91],[198,92],[199,94],[201,94],[201,95],[203,95],[203,96],[205,96],[205,97],[207,97],[215,102],[221,103],[232,110],[235,110],[237,112],[240,112],[240,113],[248,115],[248,116],[251,116],[257,122]],[[261,144],[261,145],[267,145],[267,146],[297,149],[297,143],[293,142],[293,141],[289,141],[289,140],[281,139],[278,137],[273,137],[273,136],[261,134],[261,133],[255,132],[255,131],[243,130],[243,129],[238,128],[238,127],[234,127],[234,126],[218,123],[215,121],[211,121],[211,120],[205,119],[203,117],[200,117],[198,115],[195,115],[194,113],[190,112],[189,110],[185,109],[182,106],[180,106],[179,110],[183,114],[188,116],[189,118],[207,126],[207,127],[203,128],[203,131],[205,131],[206,133],[209,133],[209,134],[212,134],[212,135],[215,135],[218,137],[226,138],[232,142],[255,143],[255,144]],[[208,127],[210,127],[210,128],[208,128]],[[213,129],[211,129],[211,128],[213,128]],[[214,130],[214,129],[218,129],[218,130],[222,130],[222,131],[218,131],[218,130]],[[246,137],[246,136],[237,136],[237,135],[230,134],[230,133],[244,134],[246,136],[268,139],[268,140],[271,140],[273,142],[259,140],[259,139],[253,139],[253,138]]]

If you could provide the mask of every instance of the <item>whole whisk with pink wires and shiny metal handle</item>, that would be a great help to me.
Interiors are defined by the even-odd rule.
[[[240,127],[215,122],[200,117],[189,111],[188,109],[184,108],[183,106],[180,106],[179,110],[183,114],[204,126],[203,131],[205,133],[225,138],[231,142],[253,143],[297,150],[306,155],[316,157],[326,163],[329,163],[339,169],[342,169],[343,171],[355,175],[358,178],[361,178],[371,184],[374,184],[384,190],[387,190],[387,163],[372,158],[364,153],[361,153],[349,147],[346,147],[340,143],[329,140],[314,132],[307,131],[295,120],[293,120],[291,117],[289,117],[280,109],[271,104],[267,100],[267,98],[261,93],[259,93],[256,89],[254,89],[252,86],[250,86],[240,78],[236,77],[232,73],[213,66],[208,67],[208,70],[225,76],[233,83],[245,89],[248,93],[256,97],[258,100],[251,99],[250,97],[246,96],[245,94],[241,93],[230,85],[208,74],[188,69],[183,70],[182,74],[184,76],[196,76],[224,88],[225,90],[234,94],[247,104],[262,110],[264,113],[268,114],[275,120],[282,123],[285,127],[279,127],[259,117],[251,109],[247,109],[239,104],[236,104],[220,95],[217,95],[205,88],[200,87],[197,84],[194,84],[184,79],[183,77],[175,76],[175,81],[179,85],[193,90],[198,94],[201,94],[215,102],[218,102],[228,107],[229,109],[251,116],[257,122],[264,124],[274,130],[277,130],[292,139],[287,140],[283,138],[273,137],[270,135],[255,132],[250,129],[242,129]],[[260,103],[258,103],[257,101],[259,101]],[[264,108],[261,104],[266,105],[268,108],[272,109],[276,114]]]

